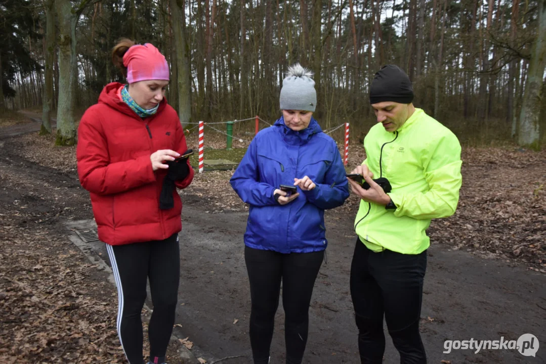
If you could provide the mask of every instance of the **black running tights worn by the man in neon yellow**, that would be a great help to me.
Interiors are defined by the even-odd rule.
[[[426,363],[419,334],[426,250],[374,253],[357,239],[351,265],[351,297],[358,326],[361,363],[381,364],[385,351],[383,314],[400,363]]]

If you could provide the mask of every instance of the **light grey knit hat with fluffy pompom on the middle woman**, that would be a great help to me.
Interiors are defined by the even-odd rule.
[[[279,98],[281,110],[314,112],[317,107],[317,91],[314,89],[312,76],[313,73],[299,63],[288,67]]]

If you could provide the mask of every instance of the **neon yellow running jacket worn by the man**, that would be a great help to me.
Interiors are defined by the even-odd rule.
[[[433,218],[451,216],[461,188],[461,146],[448,128],[415,109],[395,132],[376,124],[364,139],[362,163],[373,178],[388,178],[396,210],[360,201],[355,231],[374,252],[419,254],[430,246]]]

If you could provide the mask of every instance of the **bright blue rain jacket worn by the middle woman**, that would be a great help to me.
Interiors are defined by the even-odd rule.
[[[280,205],[274,190],[293,186],[308,176],[316,184],[294,201]],[[295,132],[281,117],[252,140],[230,180],[241,200],[250,205],[245,244],[280,253],[326,249],[324,210],[343,205],[349,196],[345,167],[336,142],[322,132],[314,118]]]

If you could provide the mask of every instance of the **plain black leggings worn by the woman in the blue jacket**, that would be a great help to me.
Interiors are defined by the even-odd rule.
[[[255,364],[267,363],[282,279],[284,342],[287,364],[304,356],[309,326],[309,304],[324,251],[282,254],[245,246],[252,311],[250,344]]]

